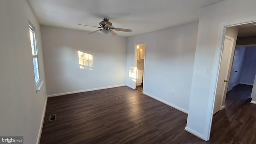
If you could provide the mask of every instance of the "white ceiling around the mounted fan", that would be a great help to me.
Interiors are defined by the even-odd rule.
[[[27,0],[42,25],[92,32],[102,18],[134,36],[199,20],[200,8],[223,0]]]

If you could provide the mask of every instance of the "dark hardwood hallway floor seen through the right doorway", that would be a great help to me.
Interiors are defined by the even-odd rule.
[[[251,104],[252,86],[239,84],[227,93],[225,109],[213,116],[211,143],[255,144],[256,105]]]

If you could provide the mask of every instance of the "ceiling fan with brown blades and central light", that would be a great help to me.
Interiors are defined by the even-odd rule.
[[[114,26],[112,26],[112,23],[109,22],[109,18],[103,18],[102,19],[103,21],[100,22],[100,26],[92,26],[92,27],[96,27],[96,28],[102,28],[102,29],[99,29],[99,30],[96,30],[96,31],[93,31],[93,32],[89,32],[89,34],[92,34],[94,32],[98,32],[98,31],[101,31],[103,32],[104,34],[112,34],[113,36],[116,36],[117,33],[114,32],[113,30],[117,30],[117,31],[122,31],[122,32],[132,32],[132,30],[129,30],[129,29],[124,29],[124,28],[115,28]],[[88,25],[84,25],[84,24],[78,24],[78,25],[81,25],[81,26],[88,26]]]

